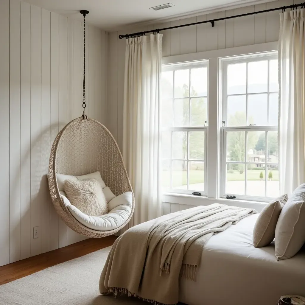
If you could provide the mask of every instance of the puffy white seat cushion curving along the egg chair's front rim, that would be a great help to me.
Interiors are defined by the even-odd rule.
[[[60,192],[64,204],[74,218],[85,227],[96,231],[109,231],[120,227],[128,219],[132,209],[132,193],[126,192],[109,201],[109,213],[102,216],[88,216],[73,206],[66,198],[65,192]]]

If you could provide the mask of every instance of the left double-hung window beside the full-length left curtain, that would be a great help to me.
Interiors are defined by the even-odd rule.
[[[208,64],[163,66],[162,184],[167,191],[205,194]]]

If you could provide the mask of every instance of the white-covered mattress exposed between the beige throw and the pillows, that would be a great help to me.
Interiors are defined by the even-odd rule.
[[[277,261],[274,243],[252,244],[259,214],[250,215],[207,242],[196,281],[180,279],[179,301],[189,305],[276,305],[280,296],[305,296],[305,250]]]

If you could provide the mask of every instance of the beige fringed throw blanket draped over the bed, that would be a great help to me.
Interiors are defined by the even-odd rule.
[[[178,303],[179,276],[195,280],[210,237],[253,213],[257,212],[214,203],[130,228],[110,250],[100,292],[126,293],[155,305]]]

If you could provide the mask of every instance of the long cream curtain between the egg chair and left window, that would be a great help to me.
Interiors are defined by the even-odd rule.
[[[126,39],[123,158],[135,194],[128,224],[162,215],[160,74],[162,34]]]

